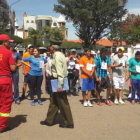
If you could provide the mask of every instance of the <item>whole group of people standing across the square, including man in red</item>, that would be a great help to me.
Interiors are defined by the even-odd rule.
[[[127,56],[124,55],[123,48],[119,48],[117,54],[111,59],[107,56],[106,49],[101,49],[100,55],[95,58],[91,56],[90,49],[85,49],[84,56],[80,58],[76,50],[72,50],[66,57],[64,53],[59,51],[59,46],[52,45],[47,51],[47,58],[43,58],[40,56],[38,48],[30,46],[21,58],[13,46],[10,46],[10,50],[8,50],[10,42],[13,41],[7,35],[0,35],[0,132],[7,129],[13,98],[16,104],[20,104],[21,99],[25,98],[27,86],[31,98],[30,104],[35,106],[34,95],[36,93],[38,104],[43,105],[41,101],[43,68],[45,68],[46,91],[50,94],[50,105],[46,119],[40,122],[41,125],[54,125],[60,110],[64,122],[59,127],[74,128],[67,99],[68,91],[74,93],[81,89],[83,106],[92,107],[92,91],[95,91],[97,104],[101,106],[100,93],[107,89],[105,103],[111,106],[110,93],[112,88],[114,103],[125,104],[122,99],[123,89],[125,81],[128,81],[129,78],[132,83],[132,104],[136,102],[136,90],[137,103],[140,104],[140,51],[137,51],[135,57],[128,60]],[[24,75],[21,98],[18,87],[18,68],[20,66],[22,66]]]

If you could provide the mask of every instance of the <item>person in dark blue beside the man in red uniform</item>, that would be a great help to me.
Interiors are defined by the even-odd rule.
[[[13,56],[16,62],[16,71],[12,72],[12,80],[13,80],[13,85],[14,85],[14,101],[16,104],[20,104],[20,97],[19,97],[19,67],[22,65],[20,62],[22,60],[21,55],[16,52],[15,50],[15,45],[11,44],[10,45],[10,51],[13,52]]]

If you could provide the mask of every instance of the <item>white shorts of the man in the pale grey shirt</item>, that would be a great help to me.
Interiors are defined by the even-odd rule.
[[[115,89],[124,89],[125,78],[113,77],[113,85]]]

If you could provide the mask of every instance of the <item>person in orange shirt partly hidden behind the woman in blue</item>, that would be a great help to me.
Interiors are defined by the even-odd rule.
[[[33,54],[33,46],[29,46],[28,51],[23,54],[22,59],[25,59]],[[29,62],[26,62],[27,64],[30,64]],[[24,75],[24,84],[22,88],[22,99],[25,99],[25,92],[27,85],[29,84],[29,78],[28,78],[28,73],[30,71],[30,67],[23,65],[23,75]]]

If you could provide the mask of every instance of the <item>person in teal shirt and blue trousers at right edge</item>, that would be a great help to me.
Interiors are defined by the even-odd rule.
[[[138,103],[140,104],[140,51],[137,51],[135,57],[129,60],[129,71],[132,81],[132,104],[135,104],[135,92],[138,90]]]

